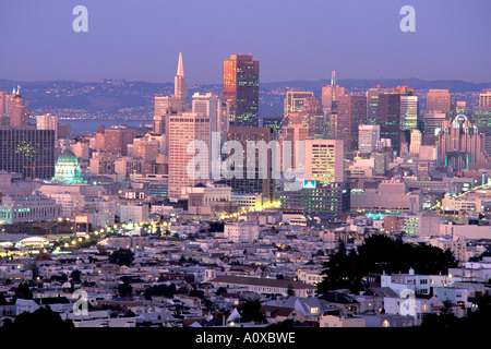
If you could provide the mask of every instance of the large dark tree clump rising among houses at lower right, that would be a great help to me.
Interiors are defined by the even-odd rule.
[[[324,263],[325,275],[318,292],[347,288],[352,292],[362,290],[362,279],[369,274],[408,273],[446,274],[450,267],[456,267],[457,261],[452,252],[424,243],[403,242],[387,236],[368,237],[357,251],[349,254],[338,250],[330,254]]]

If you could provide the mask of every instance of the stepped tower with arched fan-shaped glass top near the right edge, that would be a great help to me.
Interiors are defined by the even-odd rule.
[[[484,152],[484,135],[478,133],[466,116],[445,121],[439,134],[439,158],[456,170],[490,169],[491,157]]]

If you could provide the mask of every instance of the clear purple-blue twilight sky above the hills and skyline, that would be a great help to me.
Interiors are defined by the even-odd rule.
[[[75,5],[88,33],[75,33]],[[416,32],[403,33],[403,5]],[[252,53],[261,82],[330,79],[491,82],[490,0],[1,0],[0,79],[221,83]]]

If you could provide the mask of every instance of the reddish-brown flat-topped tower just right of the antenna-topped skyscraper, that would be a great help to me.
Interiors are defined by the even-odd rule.
[[[345,149],[358,146],[358,125],[367,121],[367,97],[345,95],[337,100],[336,140],[345,141]]]

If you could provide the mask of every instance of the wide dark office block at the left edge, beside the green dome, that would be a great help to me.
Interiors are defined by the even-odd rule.
[[[55,142],[52,130],[1,127],[0,169],[33,179],[51,179],[55,174]]]

